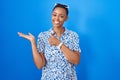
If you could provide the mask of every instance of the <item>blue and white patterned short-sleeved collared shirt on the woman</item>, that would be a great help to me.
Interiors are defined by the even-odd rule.
[[[46,58],[41,80],[77,80],[75,65],[66,59],[60,49],[49,44],[48,38],[51,37],[51,31],[53,31],[52,28],[41,32],[37,40],[38,51],[44,53]],[[81,52],[77,33],[65,28],[59,40],[69,49]]]

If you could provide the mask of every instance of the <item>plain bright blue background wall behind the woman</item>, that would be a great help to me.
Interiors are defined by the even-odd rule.
[[[78,80],[120,80],[119,0],[0,1],[0,80],[39,80],[31,44],[17,32],[35,35],[52,27],[54,4],[69,5],[64,24],[79,34],[81,61]]]

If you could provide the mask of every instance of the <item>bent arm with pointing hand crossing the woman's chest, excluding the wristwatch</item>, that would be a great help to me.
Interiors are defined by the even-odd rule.
[[[58,46],[61,42],[53,35],[51,35],[51,38],[49,38],[48,40],[49,40],[49,43],[54,46]],[[64,44],[62,44],[60,49],[69,62],[71,62],[75,65],[77,65],[79,63],[79,61],[80,61],[80,52],[79,51],[73,51],[73,50],[69,49],[68,47],[66,47]]]

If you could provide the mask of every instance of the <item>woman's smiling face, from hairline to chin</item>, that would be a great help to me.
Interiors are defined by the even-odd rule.
[[[53,27],[62,27],[64,22],[67,20],[67,14],[64,8],[56,7],[52,13],[52,24]]]

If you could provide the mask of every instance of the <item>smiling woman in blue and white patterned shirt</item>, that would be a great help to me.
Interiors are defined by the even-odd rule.
[[[41,80],[77,80],[75,65],[80,61],[78,35],[63,27],[68,19],[68,7],[56,4],[52,11],[53,27],[35,37],[18,32],[31,42],[33,59],[37,68],[42,68]]]

